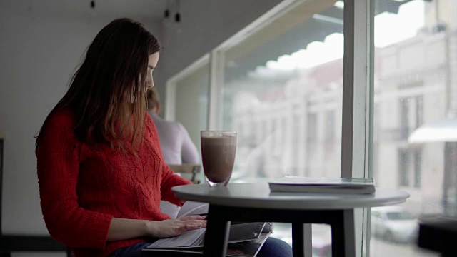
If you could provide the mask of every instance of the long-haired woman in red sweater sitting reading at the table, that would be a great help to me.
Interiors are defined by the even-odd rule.
[[[36,138],[46,227],[76,257],[141,256],[145,242],[206,227],[203,216],[159,209],[161,199],[181,205],[171,187],[191,183],[164,163],[146,113],[159,50],[135,21],[105,26]]]

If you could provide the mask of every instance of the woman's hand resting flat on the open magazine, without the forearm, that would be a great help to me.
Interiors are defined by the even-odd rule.
[[[147,236],[166,238],[179,236],[194,229],[206,228],[205,216],[186,216],[164,221],[149,221],[146,226]]]

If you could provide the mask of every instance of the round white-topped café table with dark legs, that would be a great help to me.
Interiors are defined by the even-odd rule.
[[[333,256],[355,257],[354,208],[393,205],[409,197],[405,191],[383,188],[358,195],[271,192],[268,183],[186,185],[172,191],[184,200],[209,203],[206,257],[226,256],[231,221],[292,223],[294,257],[311,256],[311,223],[326,223],[331,226]]]

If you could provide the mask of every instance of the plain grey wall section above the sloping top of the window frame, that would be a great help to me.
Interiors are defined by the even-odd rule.
[[[162,22],[161,76],[155,79],[161,99],[165,83],[281,0],[181,1],[181,23]]]

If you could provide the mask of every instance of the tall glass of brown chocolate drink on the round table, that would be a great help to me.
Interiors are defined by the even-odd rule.
[[[236,131],[201,131],[201,158],[209,186],[227,186],[236,153]]]

